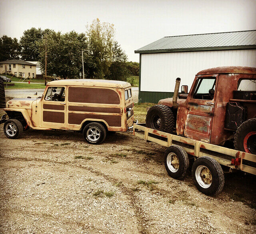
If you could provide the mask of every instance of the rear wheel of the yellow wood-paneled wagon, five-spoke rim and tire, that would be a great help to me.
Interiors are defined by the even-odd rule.
[[[102,124],[92,122],[84,127],[83,136],[89,144],[100,144],[106,138],[106,129]]]

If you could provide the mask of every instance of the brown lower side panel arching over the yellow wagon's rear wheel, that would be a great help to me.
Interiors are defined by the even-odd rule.
[[[102,114],[75,114],[68,113],[69,124],[81,124],[84,119],[105,120],[109,126],[121,127],[121,116],[102,115]]]

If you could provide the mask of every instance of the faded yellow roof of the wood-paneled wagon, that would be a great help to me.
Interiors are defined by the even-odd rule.
[[[119,80],[98,80],[98,79],[69,79],[69,80],[54,80],[47,85],[76,85],[76,86],[96,86],[108,88],[127,88],[131,84]]]

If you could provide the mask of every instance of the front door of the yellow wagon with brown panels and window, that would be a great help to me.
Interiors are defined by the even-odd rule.
[[[66,128],[66,87],[48,87],[42,101],[42,126]]]

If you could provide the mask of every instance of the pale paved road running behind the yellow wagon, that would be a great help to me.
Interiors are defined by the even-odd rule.
[[[30,96],[31,98],[34,98],[34,93],[37,92],[37,96],[41,96],[44,92],[44,89],[8,89],[5,90],[5,96],[6,97],[15,97],[15,98],[24,98]],[[138,87],[132,87],[132,96],[134,102],[138,102],[138,94],[139,94],[139,88]]]

